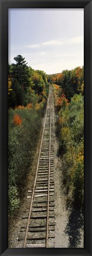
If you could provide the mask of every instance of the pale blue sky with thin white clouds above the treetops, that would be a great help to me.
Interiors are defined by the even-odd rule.
[[[84,9],[9,9],[9,63],[22,55],[47,74],[84,65]]]

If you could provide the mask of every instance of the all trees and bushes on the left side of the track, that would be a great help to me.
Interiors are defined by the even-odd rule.
[[[43,71],[34,71],[25,65],[22,56],[17,64],[9,65],[8,77],[8,209],[14,216],[24,196],[24,185],[41,129],[42,117],[49,92]],[[18,66],[22,60],[22,63]],[[22,79],[20,79],[20,69]]]

